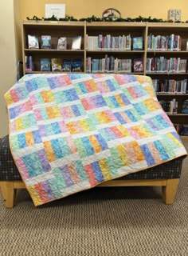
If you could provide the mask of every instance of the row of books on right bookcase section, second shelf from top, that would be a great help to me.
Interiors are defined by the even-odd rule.
[[[147,72],[186,73],[186,59],[182,58],[147,58]]]

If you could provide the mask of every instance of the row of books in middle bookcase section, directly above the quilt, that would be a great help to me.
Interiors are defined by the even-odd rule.
[[[87,72],[143,72],[143,59],[119,59],[113,56],[105,58],[87,58]]]

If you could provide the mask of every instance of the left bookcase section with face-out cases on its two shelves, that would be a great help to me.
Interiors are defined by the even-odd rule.
[[[65,59],[77,60],[84,71],[84,28],[84,22],[23,22],[23,73],[63,72],[53,68],[53,59],[62,66]]]

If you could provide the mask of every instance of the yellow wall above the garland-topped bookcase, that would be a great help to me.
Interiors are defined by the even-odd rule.
[[[107,8],[116,8],[122,14],[122,18],[136,18],[142,16],[148,18],[167,19],[169,9],[182,10],[182,21],[188,20],[188,8],[186,0],[20,0],[22,6],[22,19],[26,17],[38,18],[45,16],[45,3],[65,3],[66,14],[74,18],[87,18],[95,15],[101,17]]]

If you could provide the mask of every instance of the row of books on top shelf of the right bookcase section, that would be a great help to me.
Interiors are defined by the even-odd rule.
[[[182,38],[180,35],[153,35],[147,37],[147,50],[181,50]]]

